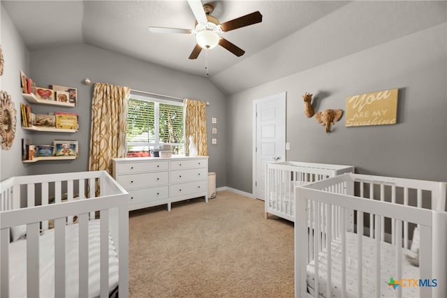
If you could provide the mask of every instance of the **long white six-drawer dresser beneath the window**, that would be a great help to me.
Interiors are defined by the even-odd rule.
[[[113,158],[112,175],[129,192],[129,210],[205,197],[208,156]]]

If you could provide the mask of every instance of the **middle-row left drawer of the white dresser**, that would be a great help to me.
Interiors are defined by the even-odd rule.
[[[168,172],[119,175],[117,181],[126,190],[168,184]]]

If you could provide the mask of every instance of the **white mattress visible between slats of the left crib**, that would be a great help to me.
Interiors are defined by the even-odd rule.
[[[100,222],[89,221],[89,297],[99,296]],[[27,297],[27,240],[10,243],[10,297]],[[54,230],[40,237],[40,297],[54,297]],[[79,229],[66,226],[66,297],[79,297]],[[118,285],[118,257],[109,237],[109,292]]]

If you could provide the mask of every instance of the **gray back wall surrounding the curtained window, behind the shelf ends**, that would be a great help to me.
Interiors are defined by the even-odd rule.
[[[207,107],[207,132],[210,144],[210,171],[217,172],[217,186],[226,186],[226,163],[223,144],[225,133],[225,98],[221,92],[204,77],[189,75],[170,68],[156,66],[138,59],[110,52],[90,45],[71,45],[52,50],[31,52],[31,76],[38,86],[59,84],[78,88],[78,107],[68,108],[80,117],[80,129],[73,135],[39,133],[39,142],[51,143],[56,137],[62,140],[78,140],[80,157],[75,161],[39,162],[32,168],[32,174],[59,172],[61,170],[83,171],[88,169],[91,119],[91,94],[93,85],[82,84],[85,77],[93,82],[106,82],[128,86],[135,90],[166,94],[180,98],[193,98],[210,102]],[[36,112],[46,112],[46,106],[34,107]],[[57,110],[64,110],[57,108]],[[67,109],[66,109],[67,110]],[[219,119],[219,144],[211,145],[211,117]]]

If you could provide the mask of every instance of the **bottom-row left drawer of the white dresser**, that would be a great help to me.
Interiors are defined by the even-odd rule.
[[[168,198],[169,187],[167,185],[129,191],[129,210],[166,204]]]

